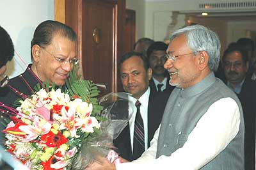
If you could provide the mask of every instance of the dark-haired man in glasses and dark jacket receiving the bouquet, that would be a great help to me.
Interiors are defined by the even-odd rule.
[[[32,64],[24,73],[10,79],[0,102],[11,106],[20,95],[31,95],[38,83],[49,81],[50,86],[52,83],[63,86],[77,63],[76,44],[77,36],[71,27],[54,20],[40,23],[31,41]]]

